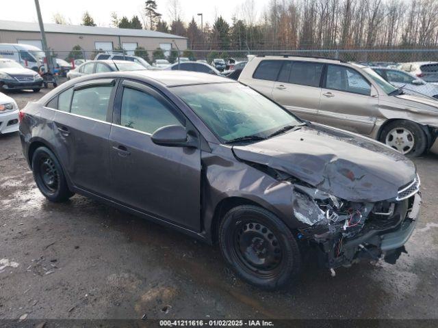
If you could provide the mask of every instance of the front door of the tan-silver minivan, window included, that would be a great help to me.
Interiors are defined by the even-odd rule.
[[[378,98],[371,83],[347,66],[327,64],[316,122],[368,135],[376,122]]]

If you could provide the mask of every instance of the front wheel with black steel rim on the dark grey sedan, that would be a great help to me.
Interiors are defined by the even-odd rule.
[[[281,288],[300,271],[300,251],[292,232],[258,206],[229,210],[220,223],[219,245],[237,275],[259,288]]]

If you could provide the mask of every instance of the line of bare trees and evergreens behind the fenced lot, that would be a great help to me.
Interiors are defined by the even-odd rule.
[[[438,46],[438,0],[270,0],[261,12],[255,0],[245,0],[231,22],[218,16],[202,28],[195,17],[182,20],[180,0],[167,0],[167,7],[169,21],[157,12],[157,1],[147,0],[142,12],[130,18],[113,13],[111,25],[185,36],[192,50]],[[54,19],[60,20],[57,15]],[[95,26],[88,12],[82,24]]]

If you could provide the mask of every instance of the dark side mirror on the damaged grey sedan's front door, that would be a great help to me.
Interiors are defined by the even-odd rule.
[[[152,142],[159,146],[196,147],[196,140],[188,135],[185,127],[168,125],[159,128],[151,136]]]

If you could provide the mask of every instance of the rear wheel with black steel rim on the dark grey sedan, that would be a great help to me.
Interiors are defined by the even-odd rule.
[[[68,189],[60,162],[48,148],[40,147],[35,150],[32,171],[38,189],[51,202],[65,202],[74,195]]]

